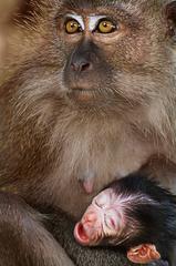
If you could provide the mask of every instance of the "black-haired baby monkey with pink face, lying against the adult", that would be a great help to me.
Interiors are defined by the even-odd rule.
[[[85,246],[122,247],[133,263],[176,266],[176,196],[141,174],[115,181],[93,198],[74,236]]]

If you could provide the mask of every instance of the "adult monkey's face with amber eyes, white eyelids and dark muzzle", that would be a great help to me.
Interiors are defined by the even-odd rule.
[[[124,110],[147,105],[162,92],[166,27],[158,19],[162,8],[155,19],[143,8],[128,1],[64,1],[55,27],[68,99]]]

